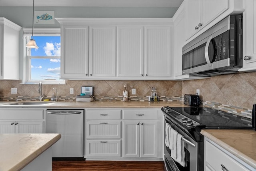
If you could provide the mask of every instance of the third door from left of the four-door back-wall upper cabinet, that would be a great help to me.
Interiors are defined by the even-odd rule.
[[[144,76],[143,27],[119,26],[117,34],[117,76]]]

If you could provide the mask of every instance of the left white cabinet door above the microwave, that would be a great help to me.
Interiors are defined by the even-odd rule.
[[[200,23],[200,8],[201,0],[187,0],[186,1],[186,38],[198,32]],[[198,27],[198,28],[196,28]]]

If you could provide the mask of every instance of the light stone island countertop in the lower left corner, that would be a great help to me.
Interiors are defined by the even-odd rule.
[[[18,171],[60,139],[50,134],[0,134],[0,170]]]

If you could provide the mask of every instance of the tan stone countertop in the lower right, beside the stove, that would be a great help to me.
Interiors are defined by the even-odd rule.
[[[202,129],[200,133],[256,169],[254,129]]]

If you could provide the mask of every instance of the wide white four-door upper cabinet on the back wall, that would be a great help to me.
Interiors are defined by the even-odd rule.
[[[170,18],[56,18],[61,78],[171,79]]]

